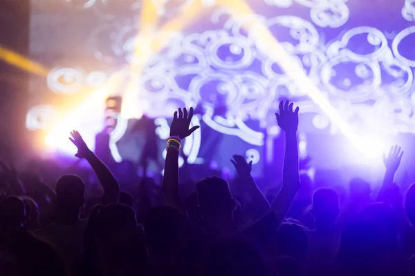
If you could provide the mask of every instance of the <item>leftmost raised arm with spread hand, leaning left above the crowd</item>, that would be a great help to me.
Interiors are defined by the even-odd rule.
[[[105,166],[93,152],[89,150],[88,146],[82,139],[81,135],[77,131],[71,132],[72,138],[69,138],[72,143],[77,147],[78,151],[75,155],[78,158],[84,158],[91,165],[91,168],[95,172],[104,189],[104,197],[102,201],[105,204],[114,203],[118,201],[118,193],[120,193],[120,186],[118,186],[118,181],[113,176],[111,170]]]

